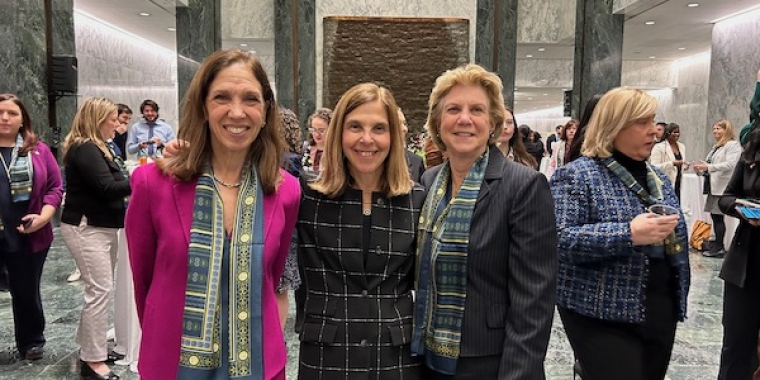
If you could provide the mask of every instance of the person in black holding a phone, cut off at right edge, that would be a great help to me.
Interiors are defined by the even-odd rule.
[[[760,219],[737,210],[741,199],[760,198],[760,129],[750,134],[718,204],[739,218],[733,243],[723,260],[723,349],[718,379],[751,378],[760,332]]]

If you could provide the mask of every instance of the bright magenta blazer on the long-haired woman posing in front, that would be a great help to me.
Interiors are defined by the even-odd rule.
[[[298,181],[284,181],[264,196],[264,378],[285,368],[285,341],[275,301],[298,217]],[[124,223],[132,263],[137,315],[142,325],[138,368],[143,380],[176,379],[187,285],[187,250],[197,180],[181,182],[154,164],[135,170]]]

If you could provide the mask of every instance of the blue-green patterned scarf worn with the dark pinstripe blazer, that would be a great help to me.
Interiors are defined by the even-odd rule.
[[[456,197],[446,202],[451,168],[446,161],[420,213],[417,237],[417,304],[412,353],[438,372],[456,372],[467,290],[470,223],[489,151],[470,167]]]

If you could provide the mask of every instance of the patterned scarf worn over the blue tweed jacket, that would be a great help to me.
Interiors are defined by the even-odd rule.
[[[633,178],[631,172],[629,172],[623,165],[620,165],[613,157],[607,157],[602,160],[602,164],[606,166],[610,171],[615,174],[623,183],[631,189],[641,201],[647,207],[662,203],[662,180],[657,176],[652,166],[647,162],[647,187],[650,192],[647,192],[636,178]],[[665,257],[668,259],[672,266],[679,266],[688,261],[689,251],[682,242],[687,241],[686,236],[683,236],[677,228],[671,233],[665,240],[655,246],[665,247]]]

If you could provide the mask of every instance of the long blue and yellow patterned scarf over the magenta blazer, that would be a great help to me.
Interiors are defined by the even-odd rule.
[[[221,366],[221,309],[228,308],[230,378],[260,379],[264,373],[263,195],[255,168],[245,170],[244,177],[230,239],[229,305],[219,304],[226,236],[222,201],[210,168],[204,171],[195,187],[180,365],[196,370]]]

